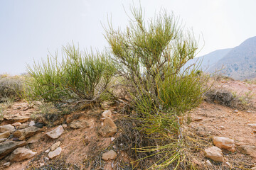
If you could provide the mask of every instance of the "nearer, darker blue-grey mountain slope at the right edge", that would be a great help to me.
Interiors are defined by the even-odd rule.
[[[252,79],[256,77],[256,37],[249,38],[238,47],[234,47],[222,57],[210,71],[221,72],[233,79]]]

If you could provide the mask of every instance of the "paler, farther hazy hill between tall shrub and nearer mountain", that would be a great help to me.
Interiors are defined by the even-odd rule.
[[[203,55],[201,57],[196,57],[193,60],[189,60],[185,64],[185,68],[190,66],[191,64],[194,64],[196,62],[201,62],[201,67],[204,72],[207,71],[210,67],[213,67],[214,64],[216,64],[220,59],[222,59],[225,55],[230,52],[232,48],[227,48],[223,50],[215,50],[213,52],[210,52],[208,55]]]

